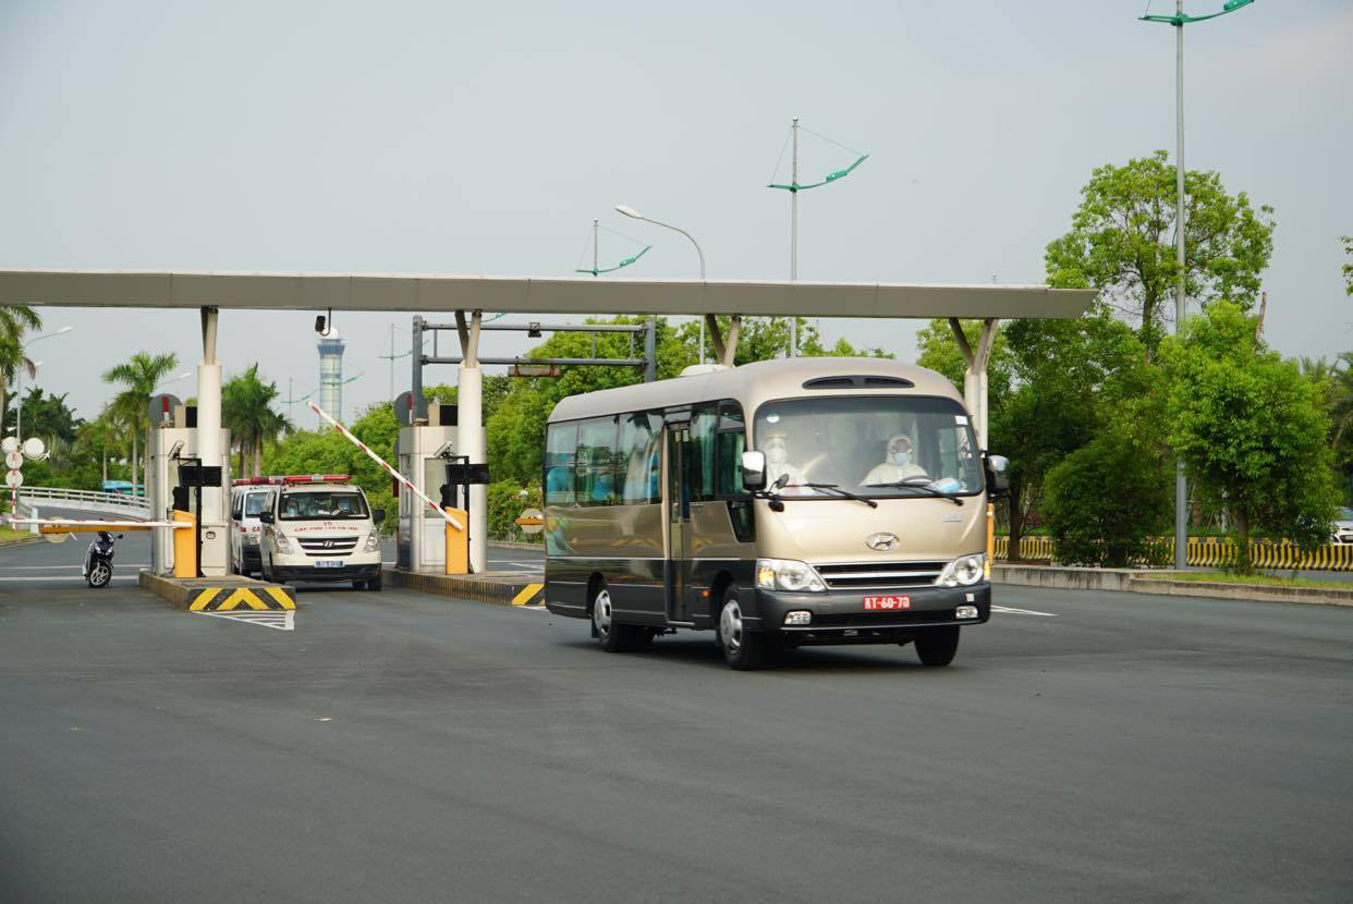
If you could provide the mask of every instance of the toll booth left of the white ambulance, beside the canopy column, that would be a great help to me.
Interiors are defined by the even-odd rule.
[[[150,502],[152,520],[173,521],[175,490],[179,489],[179,474],[183,466],[199,464],[198,455],[198,409],[176,405],[160,418],[152,417],[149,445],[150,463],[146,468],[146,498]],[[230,430],[221,430],[221,460],[200,461],[202,466],[221,467],[221,502],[211,517],[200,525],[202,551],[199,564],[206,577],[230,574]],[[212,486],[212,490],[216,487]],[[184,487],[191,501],[191,512],[196,516],[196,490]],[[206,489],[203,490],[207,491]],[[184,495],[184,493],[180,493]],[[173,529],[153,528],[150,539],[150,570],[153,574],[173,574]]]

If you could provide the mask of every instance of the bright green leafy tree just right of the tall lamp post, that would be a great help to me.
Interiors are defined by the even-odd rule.
[[[1338,494],[1329,415],[1295,361],[1254,337],[1254,318],[1216,302],[1161,344],[1169,441],[1196,493],[1231,517],[1235,568],[1254,570],[1250,539],[1272,533],[1329,541]]]

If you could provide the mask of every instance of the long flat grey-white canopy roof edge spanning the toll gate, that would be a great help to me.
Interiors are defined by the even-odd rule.
[[[0,269],[0,304],[74,307],[1061,319],[1093,298],[996,284]]]

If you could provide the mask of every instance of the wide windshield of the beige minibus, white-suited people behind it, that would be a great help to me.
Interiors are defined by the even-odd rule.
[[[808,483],[873,498],[931,495],[915,486],[954,495],[982,490],[977,437],[953,399],[832,395],[767,402],[756,411],[754,440],[766,453],[766,482],[787,475],[782,495],[833,497]]]

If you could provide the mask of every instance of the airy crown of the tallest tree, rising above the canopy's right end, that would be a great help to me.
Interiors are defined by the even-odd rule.
[[[1072,230],[1047,245],[1050,286],[1097,288],[1139,323],[1153,351],[1178,280],[1174,253],[1174,168],[1158,150],[1123,166],[1105,164],[1081,189]],[[1249,310],[1273,252],[1273,210],[1254,208],[1245,192],[1229,195],[1215,172],[1184,173],[1185,294]]]

